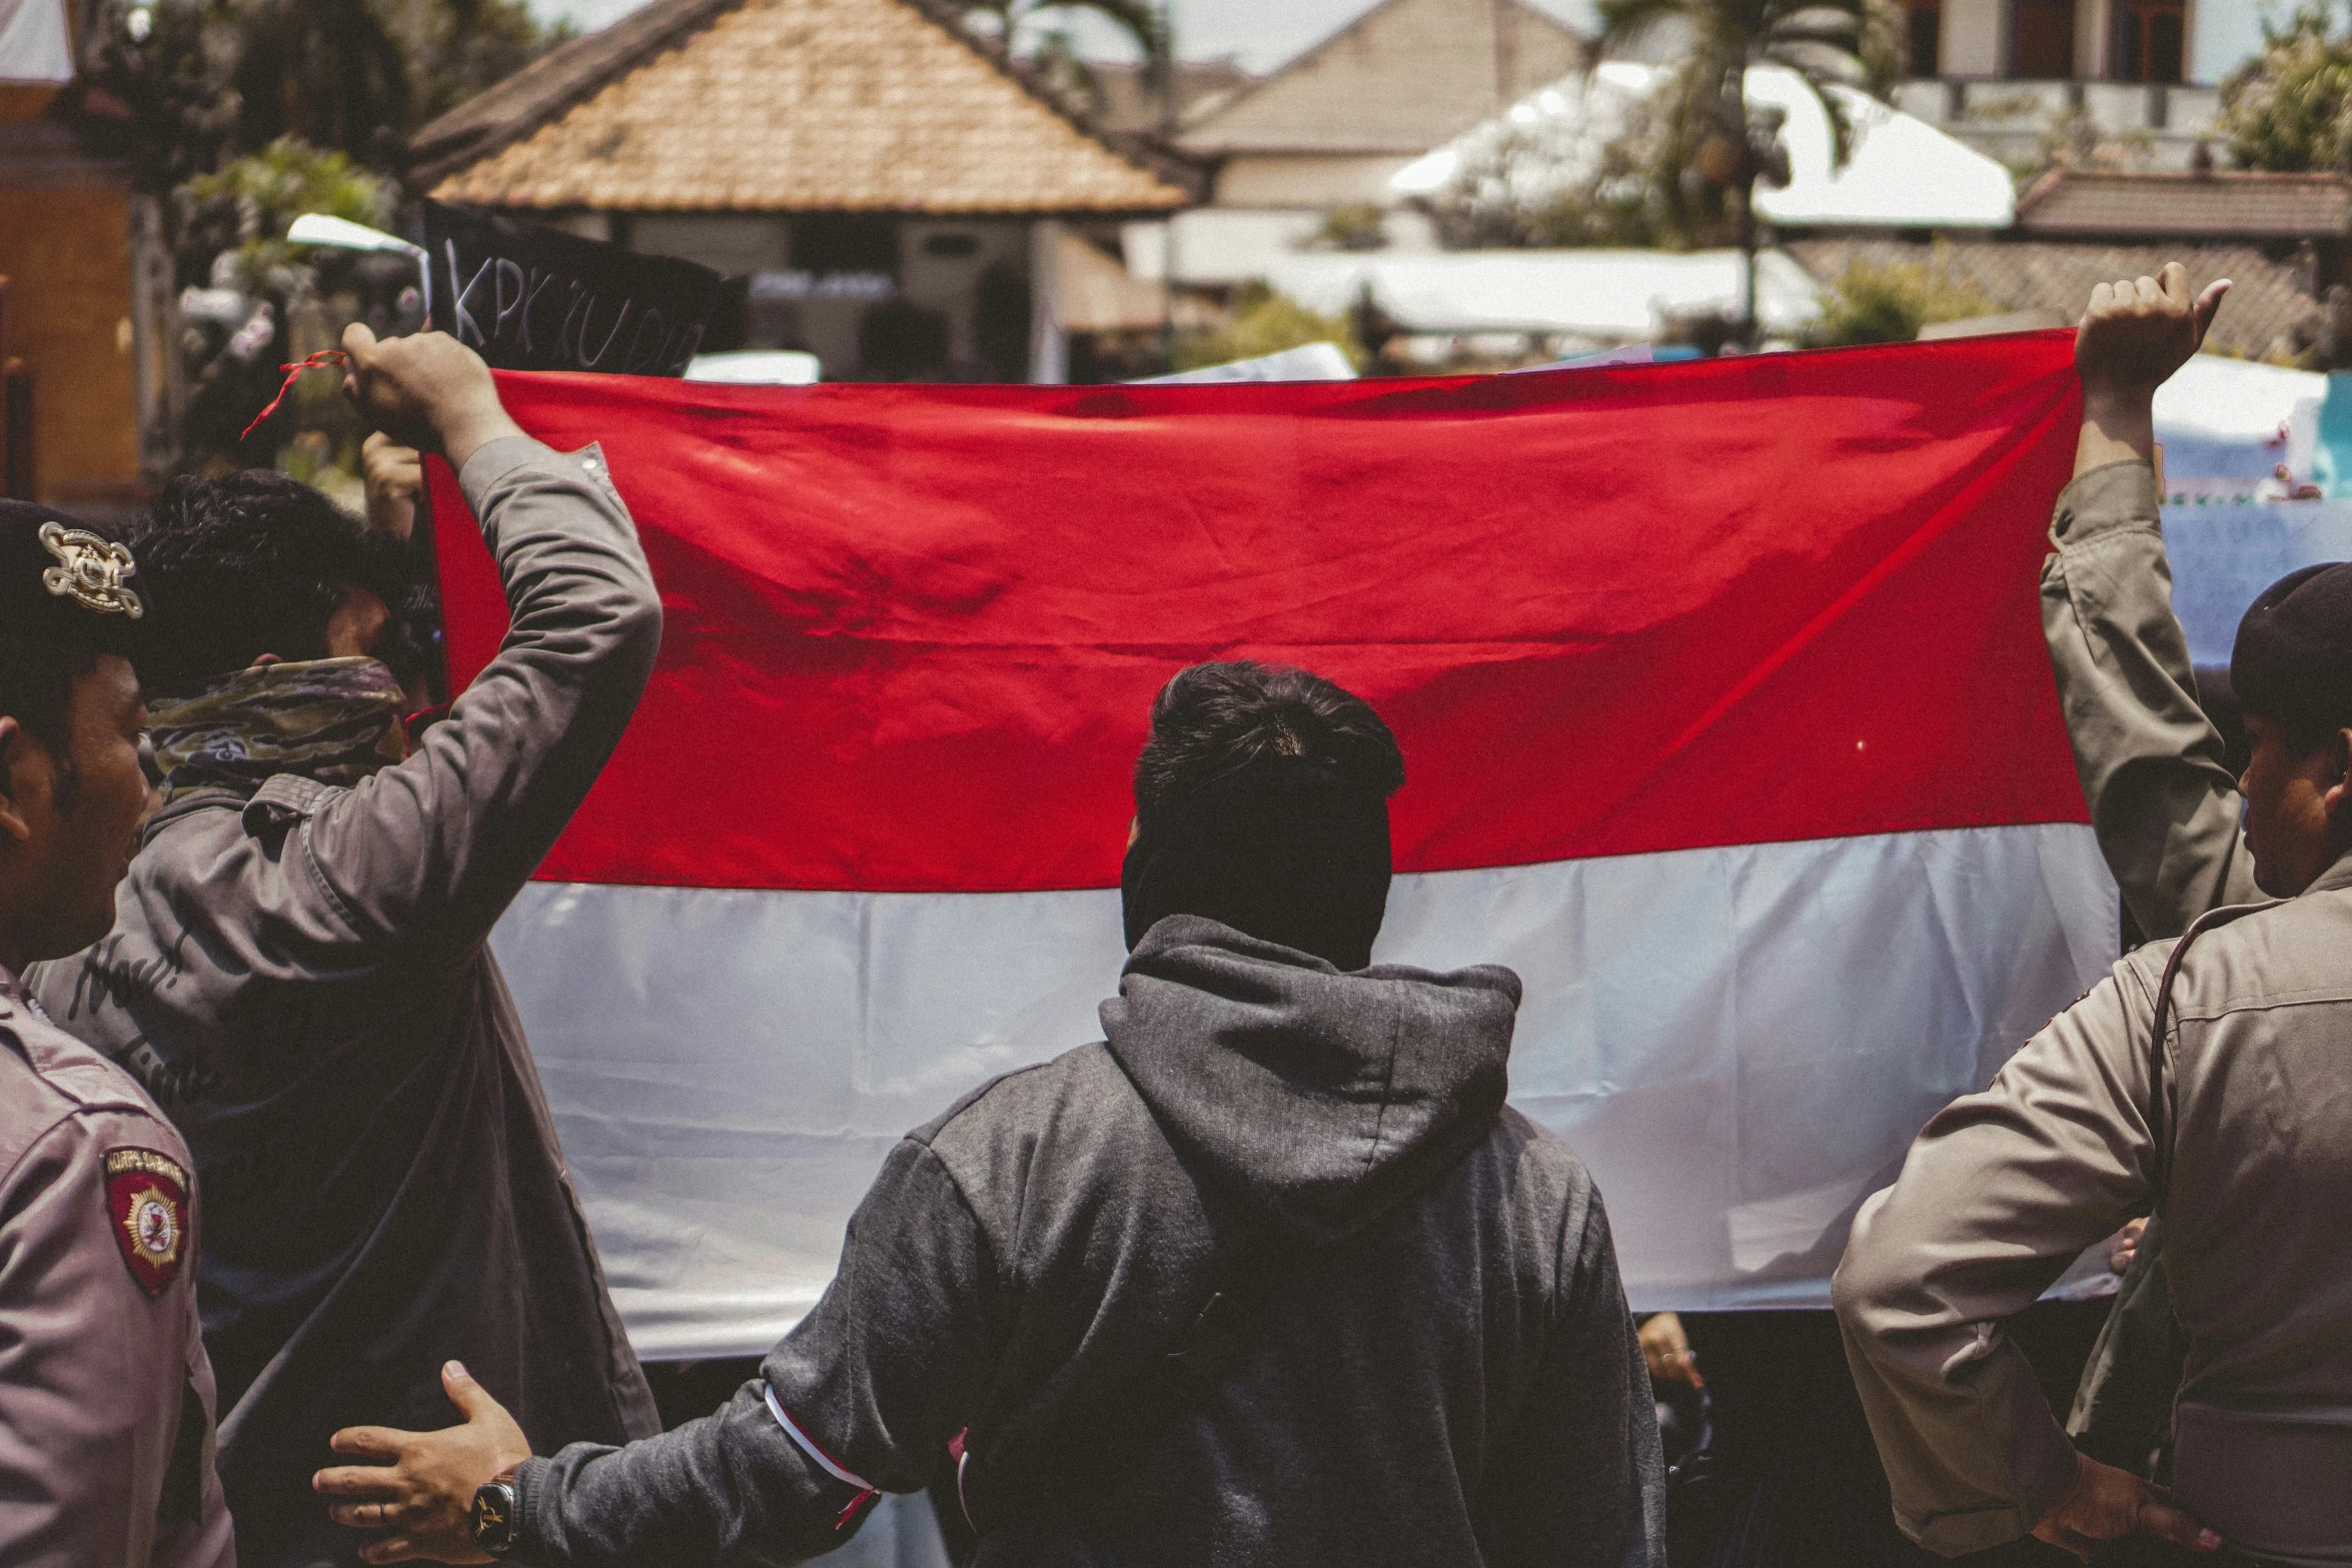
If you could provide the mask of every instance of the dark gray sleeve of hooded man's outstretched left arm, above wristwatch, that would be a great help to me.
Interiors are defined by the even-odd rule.
[[[823,1300],[762,1375],[677,1432],[524,1465],[513,1556],[767,1568],[833,1552],[870,1512],[868,1490],[920,1490],[948,1462],[990,1371],[995,1293],[955,1180],[927,1145],[901,1143],[849,1220]]]

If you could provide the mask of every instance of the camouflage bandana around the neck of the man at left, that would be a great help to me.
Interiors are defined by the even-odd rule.
[[[148,715],[162,797],[252,795],[273,773],[355,785],[409,755],[407,693],[374,658],[254,665]]]

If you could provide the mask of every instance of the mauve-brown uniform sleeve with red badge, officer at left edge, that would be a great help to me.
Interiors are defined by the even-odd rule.
[[[228,1568],[195,1237],[158,1293],[113,1237],[103,1157],[162,1128],[75,1112],[0,1175],[0,1563]]]

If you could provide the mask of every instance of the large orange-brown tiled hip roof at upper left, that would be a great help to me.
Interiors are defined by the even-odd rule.
[[[1160,212],[943,0],[654,0],[412,143],[445,202],[602,212]]]

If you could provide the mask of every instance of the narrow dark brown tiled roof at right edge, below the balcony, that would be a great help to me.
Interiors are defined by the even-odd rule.
[[[2051,169],[2018,197],[2032,235],[2317,240],[2352,226],[2343,174]]]

